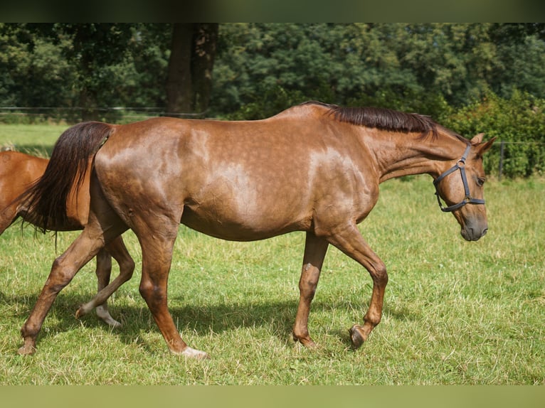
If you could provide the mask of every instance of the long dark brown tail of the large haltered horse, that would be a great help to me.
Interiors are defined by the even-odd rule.
[[[21,195],[36,217],[33,224],[38,230],[46,232],[55,225],[68,224],[70,190],[80,188],[90,157],[105,143],[112,129],[112,125],[102,122],[83,122],[60,135],[43,176]]]

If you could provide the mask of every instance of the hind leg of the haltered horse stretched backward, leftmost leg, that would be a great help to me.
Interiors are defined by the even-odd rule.
[[[38,296],[36,305],[21,328],[24,344],[19,348],[19,354],[32,354],[36,351],[36,337],[58,293],[102,247],[102,241],[91,238],[87,232],[87,229],[83,230],[72,245],[53,262],[51,273]]]

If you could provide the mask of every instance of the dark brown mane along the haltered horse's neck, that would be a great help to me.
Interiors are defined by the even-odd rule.
[[[364,127],[375,129],[400,131],[404,133],[418,132],[420,138],[431,135],[432,139],[437,139],[438,128],[446,131],[458,139],[467,142],[463,136],[453,131],[441,127],[439,124],[423,114],[398,112],[392,109],[377,107],[339,107],[334,104],[324,104],[322,102],[305,102],[303,104],[319,104],[329,109],[328,114],[339,122],[347,122]]]

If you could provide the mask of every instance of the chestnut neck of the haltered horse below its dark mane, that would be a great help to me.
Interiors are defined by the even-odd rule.
[[[465,146],[449,136],[439,140],[418,139],[418,135],[395,134],[366,141],[376,158],[380,182],[401,176],[430,174],[434,178],[443,173],[445,161],[459,159]],[[444,141],[441,139],[445,139]],[[392,141],[395,147],[392,148]]]

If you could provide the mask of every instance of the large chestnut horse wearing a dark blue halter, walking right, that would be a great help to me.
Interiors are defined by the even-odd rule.
[[[166,344],[173,353],[205,358],[181,339],[167,308],[166,282],[180,223],[238,241],[305,231],[292,335],[309,347],[315,345],[307,328],[309,308],[327,247],[355,259],[373,280],[364,323],[349,331],[358,348],[381,321],[388,281],[384,263],[357,227],[374,207],[379,183],[430,174],[441,208],[453,213],[465,240],[476,241],[487,232],[482,155],[492,142],[482,142],[482,134],[469,141],[419,114],[319,102],[257,121],[161,117],[78,124],[60,136],[27,199],[42,216],[41,228],[49,229],[65,219],[65,195],[94,158],[88,224],[53,263],[21,328],[19,353],[35,351],[58,292],[105,243],[130,228],[142,247],[139,291]],[[112,282],[94,301],[118,286]]]

